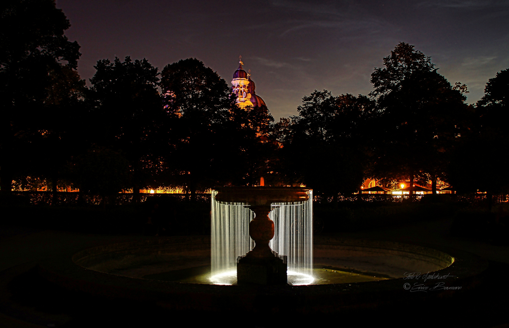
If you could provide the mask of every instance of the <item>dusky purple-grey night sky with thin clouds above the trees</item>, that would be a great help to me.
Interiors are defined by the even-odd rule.
[[[81,45],[87,81],[99,59],[147,58],[160,70],[195,57],[229,85],[242,55],[276,120],[314,89],[367,94],[400,41],[432,57],[469,103],[509,67],[509,1],[57,1]],[[90,83],[89,83],[90,84]]]

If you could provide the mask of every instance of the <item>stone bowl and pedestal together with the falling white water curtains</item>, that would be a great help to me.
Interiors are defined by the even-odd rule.
[[[239,284],[286,284],[287,267],[293,270],[292,273],[305,274],[312,270],[312,190],[299,187],[216,188],[212,191],[211,213],[213,277],[221,272],[231,275],[235,261]],[[274,241],[271,216],[277,223]],[[279,255],[281,252],[284,254]]]

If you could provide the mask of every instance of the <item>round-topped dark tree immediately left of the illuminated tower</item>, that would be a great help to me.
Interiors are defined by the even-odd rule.
[[[171,125],[178,140],[171,160],[175,177],[194,197],[233,164],[227,161],[231,144],[222,125],[230,120],[235,97],[226,81],[196,58],[166,65],[161,89],[165,111],[176,117]]]

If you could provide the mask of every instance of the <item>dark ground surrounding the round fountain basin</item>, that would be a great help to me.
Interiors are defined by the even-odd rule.
[[[206,205],[200,206],[203,207],[200,211],[206,211]],[[419,208],[412,209],[419,211]],[[132,225],[132,228],[125,228],[121,225],[122,219],[118,218],[117,221],[113,221],[119,222],[118,228],[115,228],[115,224],[109,226],[110,223],[108,223],[108,229],[101,233],[101,231],[79,228],[82,224],[80,222],[86,222],[83,221],[86,217],[84,214],[83,218],[78,218],[78,222],[74,224],[69,223],[68,227],[61,223],[60,226],[52,226],[50,230],[47,230],[44,229],[42,222],[38,223],[38,212],[30,211],[32,211],[30,219],[23,220],[10,215],[9,218],[4,217],[0,225],[0,273],[4,277],[0,281],[1,327],[151,327],[160,325],[509,327],[507,315],[509,246],[500,236],[494,239],[489,238],[486,237],[485,232],[472,235],[472,231],[475,232],[475,226],[467,229],[469,233],[459,234],[457,214],[451,213],[433,220],[419,220],[416,218],[424,215],[415,213],[412,217],[401,216],[391,224],[377,225],[365,223],[365,221],[361,224],[357,221],[354,228],[345,227],[348,224],[352,226],[352,223],[337,223],[334,229],[323,229],[320,233],[348,238],[417,243],[436,248],[452,247],[471,252],[487,259],[490,263],[489,269],[479,278],[475,288],[456,293],[456,296],[451,299],[432,298],[432,301],[422,297],[420,293],[425,292],[415,292],[414,302],[406,301],[401,304],[396,302],[384,308],[350,311],[341,316],[280,315],[264,318],[231,313],[229,309],[224,309],[222,313],[168,312],[150,304],[125,303],[67,292],[37,275],[34,267],[38,261],[54,256],[66,247],[87,248],[98,244],[136,240],[143,234],[143,214],[142,219]],[[197,211],[200,214],[196,215],[199,219],[203,216],[200,211]],[[408,207],[405,211],[408,211]],[[93,211],[90,210],[90,212]],[[90,215],[90,212],[87,215]],[[72,217],[57,221],[68,222],[69,220],[72,220]],[[349,222],[352,221],[355,222],[355,220]],[[374,218],[371,222],[379,221]],[[198,230],[206,230],[205,224],[206,222],[201,222]],[[325,224],[330,227],[330,222],[326,221]],[[193,225],[184,226],[192,227]],[[342,232],[342,226],[348,232]],[[485,228],[479,226],[478,229]],[[189,231],[195,234],[201,232],[192,229]],[[454,273],[451,274],[454,275]],[[271,300],[260,300],[260,302],[270,304]],[[59,322],[63,324],[59,325]]]

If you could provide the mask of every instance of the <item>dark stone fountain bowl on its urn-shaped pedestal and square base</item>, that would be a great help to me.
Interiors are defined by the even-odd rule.
[[[254,212],[249,222],[249,236],[254,248],[237,260],[237,282],[258,284],[287,283],[287,261],[269,247],[274,237],[274,222],[269,218],[272,203],[295,203],[308,200],[307,189],[300,187],[221,187],[215,200],[240,202]]]

